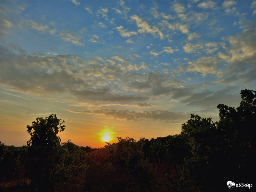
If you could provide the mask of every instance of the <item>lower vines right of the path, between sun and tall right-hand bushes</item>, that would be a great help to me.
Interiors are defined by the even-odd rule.
[[[140,191],[175,190],[175,186],[180,184],[182,185],[180,188],[184,189],[183,181],[179,181],[182,175],[181,165],[184,158],[191,156],[191,153],[183,135],[170,135],[150,140],[140,138],[139,141],[128,137],[126,139],[117,137],[117,139],[119,142],[107,143],[104,148],[93,151],[90,154],[91,159],[95,162],[110,163],[117,168],[119,174],[124,172],[130,174],[132,183],[140,183]],[[164,186],[161,184],[156,187],[159,183],[153,182],[159,180],[158,174],[160,178],[166,180]]]

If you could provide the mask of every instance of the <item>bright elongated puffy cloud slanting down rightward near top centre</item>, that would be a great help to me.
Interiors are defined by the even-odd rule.
[[[151,28],[151,26],[146,21],[143,21],[139,16],[132,15],[131,19],[134,20],[136,22],[137,27],[140,28],[138,30],[138,33],[150,33],[153,36],[159,36],[160,39],[165,38],[164,34],[159,30],[159,28],[155,26],[152,26]]]

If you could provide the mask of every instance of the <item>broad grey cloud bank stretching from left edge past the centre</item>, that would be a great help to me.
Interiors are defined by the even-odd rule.
[[[133,56],[140,57],[137,54]],[[35,95],[65,93],[82,102],[93,101],[102,104],[147,107],[145,101],[149,99],[149,96],[137,93],[123,94],[111,90],[111,86],[108,85],[115,82],[122,89],[122,86],[127,85],[130,79],[124,73],[132,70],[147,70],[148,67],[144,62],[140,65],[132,65],[115,56],[112,59],[121,61],[122,65],[113,62],[106,68],[98,66],[95,61],[88,62],[87,66],[78,67],[76,64],[81,63],[81,60],[72,55],[29,56],[16,54],[6,47],[1,47],[1,57],[3,61],[1,59],[0,82],[1,85],[10,87],[12,91]],[[96,57],[96,59],[104,63],[102,58]]]

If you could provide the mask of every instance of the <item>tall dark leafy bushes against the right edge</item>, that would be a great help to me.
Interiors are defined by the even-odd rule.
[[[250,169],[256,168],[255,93],[242,90],[242,101],[236,109],[219,104],[219,122],[191,114],[190,120],[182,125],[182,133],[192,147],[193,157],[184,164],[187,176],[195,183],[192,187],[215,191],[220,190],[216,184],[220,180],[252,180]],[[218,178],[214,172],[218,172]]]

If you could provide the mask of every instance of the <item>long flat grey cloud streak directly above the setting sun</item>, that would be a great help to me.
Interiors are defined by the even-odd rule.
[[[92,109],[92,110],[68,110],[73,113],[87,113],[94,115],[104,115],[107,118],[113,118],[126,121],[142,121],[151,119],[153,121],[163,121],[165,123],[183,123],[189,118],[188,113],[171,112],[164,110],[154,111],[129,111],[118,109]]]

